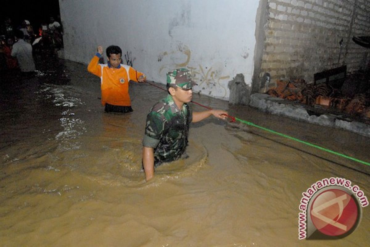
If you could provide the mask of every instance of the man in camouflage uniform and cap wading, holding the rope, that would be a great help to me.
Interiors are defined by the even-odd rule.
[[[154,176],[154,168],[184,156],[188,145],[189,123],[198,122],[211,115],[226,119],[222,110],[192,112],[188,103],[192,99],[191,79],[187,69],[167,73],[168,95],[150,110],[143,144],[143,167],[147,181]]]

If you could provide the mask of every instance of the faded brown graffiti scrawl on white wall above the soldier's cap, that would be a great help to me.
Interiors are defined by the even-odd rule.
[[[187,46],[178,46],[178,49],[176,51],[165,51],[161,53],[158,56],[158,61],[162,61],[162,59],[165,56],[172,55],[172,54],[178,54],[182,53],[185,55],[184,61],[181,63],[175,63],[174,64],[166,64],[160,67],[159,73],[162,72],[162,70],[166,69],[166,71],[170,71],[172,69],[178,69],[178,68],[187,68],[191,71],[191,74],[193,76],[193,80],[196,81],[198,84],[198,87],[200,89],[199,92],[206,90],[208,91],[208,94],[211,94],[212,91],[216,90],[219,94],[223,95],[222,97],[226,97],[227,89],[225,86],[221,84],[223,80],[227,80],[230,78],[230,76],[223,76],[221,75],[221,72],[219,70],[213,69],[213,67],[203,67],[201,64],[198,66],[190,66],[190,58],[191,58],[191,51]],[[160,59],[159,59],[160,58]],[[227,85],[227,83],[226,83]]]

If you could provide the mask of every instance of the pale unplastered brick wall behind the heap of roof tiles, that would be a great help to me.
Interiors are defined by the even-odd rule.
[[[323,70],[367,65],[370,49],[352,37],[370,35],[370,0],[268,0],[267,9],[259,75],[269,72],[270,86],[282,77],[310,83]]]

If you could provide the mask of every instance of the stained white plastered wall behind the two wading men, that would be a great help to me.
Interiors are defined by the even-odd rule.
[[[194,91],[228,99],[236,74],[252,83],[258,3],[60,0],[64,56],[87,64],[98,45],[115,44],[149,80],[165,83],[167,71],[186,67],[198,83]]]

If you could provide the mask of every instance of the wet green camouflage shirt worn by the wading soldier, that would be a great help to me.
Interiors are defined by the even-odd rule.
[[[181,157],[188,145],[191,121],[190,107],[184,104],[179,110],[170,94],[152,107],[142,144],[154,148],[154,167]]]

